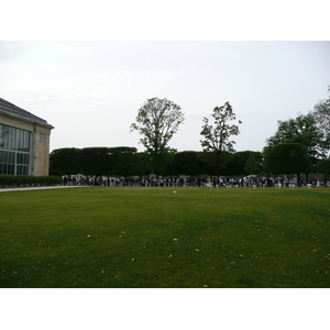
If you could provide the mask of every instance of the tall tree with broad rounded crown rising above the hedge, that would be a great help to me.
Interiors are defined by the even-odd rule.
[[[140,142],[146,152],[162,154],[169,150],[168,142],[185,118],[182,108],[173,101],[152,98],[139,109],[135,121],[131,124],[131,132],[138,131],[143,135]]]

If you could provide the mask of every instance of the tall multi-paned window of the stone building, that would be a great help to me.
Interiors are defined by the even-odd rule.
[[[29,175],[32,132],[0,124],[0,174]]]

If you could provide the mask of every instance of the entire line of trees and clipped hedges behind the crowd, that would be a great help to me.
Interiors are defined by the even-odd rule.
[[[330,91],[330,87],[329,87]],[[202,152],[176,152],[167,143],[184,122],[180,107],[167,99],[148,99],[139,110],[131,130],[142,134],[145,152],[135,147],[58,148],[51,153],[52,175],[96,176],[244,176],[330,174],[330,98],[320,101],[307,114],[278,121],[274,135],[262,152],[234,152],[232,135],[238,124],[229,124],[235,114],[229,102],[216,107],[215,124],[204,118]],[[242,122],[239,121],[239,124]],[[166,128],[166,129],[165,129]]]

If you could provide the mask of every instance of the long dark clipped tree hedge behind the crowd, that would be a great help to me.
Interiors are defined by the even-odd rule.
[[[138,152],[135,147],[66,147],[54,150],[50,155],[51,175],[107,175],[162,176],[223,175],[237,176],[262,172],[262,153],[244,151],[223,152],[172,152],[157,157]]]

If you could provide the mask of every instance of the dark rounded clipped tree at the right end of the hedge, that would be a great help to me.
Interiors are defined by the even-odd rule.
[[[264,170],[278,174],[309,173],[311,163],[301,143],[280,143],[264,148]]]

